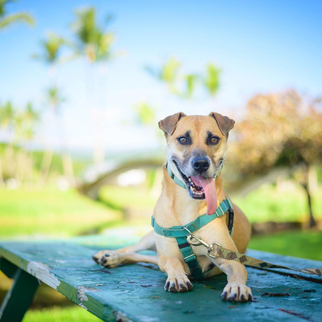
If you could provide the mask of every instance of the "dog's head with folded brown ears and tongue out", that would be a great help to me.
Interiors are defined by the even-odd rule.
[[[225,161],[228,132],[234,123],[215,112],[208,116],[179,112],[159,122],[166,136],[168,166],[185,183],[191,198],[206,199],[207,214],[217,208],[213,177]]]

